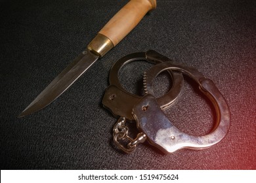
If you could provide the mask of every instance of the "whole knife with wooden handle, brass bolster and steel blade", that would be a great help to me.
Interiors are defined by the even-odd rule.
[[[98,32],[87,49],[66,67],[18,116],[32,114],[65,92],[98,58],[116,46],[145,16],[156,0],[131,0]]]

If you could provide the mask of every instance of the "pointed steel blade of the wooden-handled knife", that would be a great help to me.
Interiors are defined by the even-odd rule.
[[[54,80],[28,105],[18,116],[32,114],[52,103],[65,92],[95,61],[98,56],[90,51],[84,51],[64,69]]]

